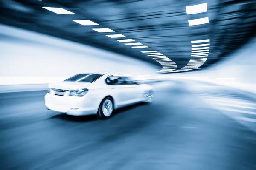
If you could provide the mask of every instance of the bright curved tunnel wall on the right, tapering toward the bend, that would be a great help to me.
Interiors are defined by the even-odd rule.
[[[172,74],[170,77],[207,81],[256,94],[256,37],[227,59],[205,70]]]

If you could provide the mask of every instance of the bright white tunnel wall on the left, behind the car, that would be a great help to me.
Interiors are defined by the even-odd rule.
[[[154,74],[155,65],[128,56],[0,25],[0,85],[49,83],[78,73]]]

